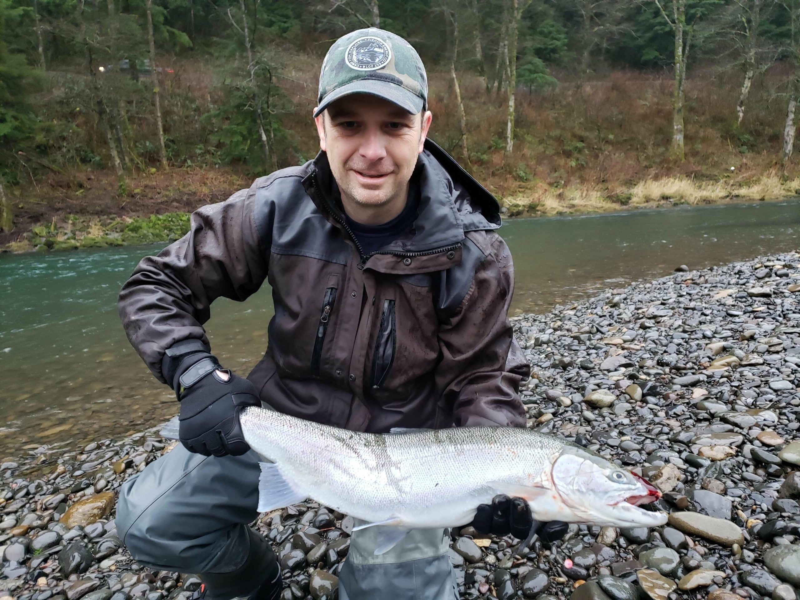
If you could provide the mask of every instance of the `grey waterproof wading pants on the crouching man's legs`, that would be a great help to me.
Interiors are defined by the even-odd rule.
[[[217,458],[178,444],[120,488],[116,523],[122,542],[142,565],[198,573],[210,584],[241,572],[248,560],[255,562],[250,548],[260,539],[248,526],[258,517],[258,462],[252,450]],[[339,573],[340,600],[457,600],[449,541],[446,530],[413,530],[375,556],[374,529],[354,532]],[[246,590],[234,582],[227,594],[215,591],[215,598],[240,596],[260,584],[246,579]]]

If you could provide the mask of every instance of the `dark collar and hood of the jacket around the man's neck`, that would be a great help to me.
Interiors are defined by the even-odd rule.
[[[436,142],[426,139],[416,170],[421,194],[414,227],[382,252],[440,250],[460,244],[466,231],[500,226],[498,201]],[[344,215],[336,200],[338,191],[325,152],[320,151],[311,162],[303,185],[323,214],[330,214],[344,228]]]

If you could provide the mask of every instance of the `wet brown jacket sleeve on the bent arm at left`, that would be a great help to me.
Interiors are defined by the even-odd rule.
[[[267,275],[271,228],[268,206],[255,214],[258,181],[225,202],[203,206],[190,218],[189,233],[158,256],[142,258],[122,286],[118,310],[134,349],[159,381],[162,358],[176,342],[199,339],[211,302],[242,301]]]

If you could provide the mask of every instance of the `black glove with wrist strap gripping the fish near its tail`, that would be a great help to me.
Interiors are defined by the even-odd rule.
[[[250,450],[239,414],[261,406],[250,381],[222,369],[214,355],[196,352],[183,358],[173,387],[181,401],[178,437],[186,450],[205,456],[240,456]]]

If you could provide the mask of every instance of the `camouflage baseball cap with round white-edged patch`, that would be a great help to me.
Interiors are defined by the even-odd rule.
[[[398,35],[370,27],[338,38],[319,74],[314,117],[350,94],[371,94],[417,114],[428,104],[428,78],[417,50]]]

